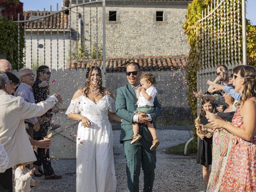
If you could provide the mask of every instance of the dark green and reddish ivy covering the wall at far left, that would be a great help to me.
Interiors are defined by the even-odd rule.
[[[24,66],[24,28],[20,26],[20,55],[18,56],[18,24],[14,22],[23,19],[23,3],[19,0],[0,0],[3,8],[0,16],[0,52],[6,55],[6,59],[10,61],[13,69],[22,68]],[[20,66],[18,66],[18,57],[20,58]]]

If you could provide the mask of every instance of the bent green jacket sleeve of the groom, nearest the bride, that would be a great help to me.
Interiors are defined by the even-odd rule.
[[[132,123],[132,118],[134,116],[134,113],[127,110],[126,98],[124,96],[124,93],[122,92],[122,90],[120,88],[118,88],[116,90],[116,92],[117,92],[117,94],[116,94],[116,114],[120,118]]]

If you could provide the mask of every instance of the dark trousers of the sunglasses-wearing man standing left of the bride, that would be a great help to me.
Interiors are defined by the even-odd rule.
[[[40,130],[38,132],[34,132],[34,140],[39,141],[44,139],[44,136],[47,135],[48,127],[49,127],[49,123],[45,123],[41,125]],[[43,165],[45,176],[54,174],[54,171],[51,165],[49,149],[46,151],[46,154],[45,154],[45,149],[42,149],[42,148],[38,148],[37,152],[38,153],[35,152],[37,161],[34,162],[33,164],[38,166]]]

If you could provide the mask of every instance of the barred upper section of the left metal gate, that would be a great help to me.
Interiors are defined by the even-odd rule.
[[[24,12],[24,20],[18,14],[18,41],[20,30],[24,30],[26,40],[25,67],[35,69],[46,64],[51,70],[64,70],[81,64],[86,68],[91,59],[102,58],[105,72],[105,0],[76,0],[76,4],[64,0],[61,10],[58,3],[56,7],[57,11],[50,6],[50,11]],[[18,44],[18,54],[20,51]]]

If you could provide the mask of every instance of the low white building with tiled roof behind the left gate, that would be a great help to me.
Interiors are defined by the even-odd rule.
[[[50,14],[50,12],[46,11],[45,15],[48,14]],[[40,18],[42,16],[44,16],[43,11],[38,13],[36,11],[24,12],[24,17],[26,17],[26,20]],[[52,30],[50,30],[50,28],[52,28]],[[42,64],[46,64],[55,69],[57,69],[57,66],[59,66],[59,68],[64,68],[64,64],[69,58],[69,32],[70,28],[68,26],[68,14],[63,14],[63,12],[54,15],[52,19],[49,17],[46,18],[45,24],[43,19],[39,20],[38,22],[26,22],[26,57],[24,58],[26,67],[36,69],[38,65],[40,66]],[[65,54],[63,49],[64,43]]]

